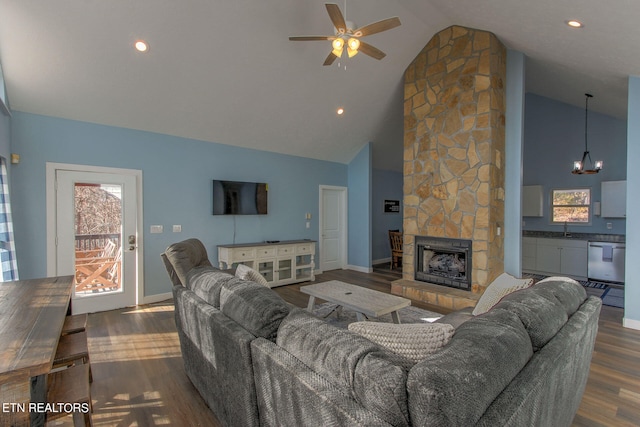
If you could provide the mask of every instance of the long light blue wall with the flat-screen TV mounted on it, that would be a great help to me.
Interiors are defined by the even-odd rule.
[[[160,253],[171,243],[200,238],[213,262],[218,244],[318,238],[319,185],[356,185],[354,205],[362,202],[359,175],[367,158],[353,165],[194,141],[168,135],[13,112],[12,151],[21,162],[12,168],[12,202],[20,277],[46,275],[46,162],[139,169],[143,171],[145,295],[170,292]],[[368,151],[363,157],[370,157]],[[362,165],[360,165],[362,163]],[[269,183],[266,216],[213,216],[212,179]],[[368,191],[365,188],[365,191]],[[364,208],[364,206],[363,206]],[[313,214],[305,227],[305,213]],[[354,214],[358,209],[354,207]],[[362,215],[360,215],[362,216]],[[150,234],[151,225],[164,233]],[[173,224],[182,225],[172,233]],[[368,230],[353,226],[350,237],[369,246]],[[361,236],[360,233],[363,233]],[[235,238],[234,238],[235,235]],[[368,253],[368,250],[364,250]],[[354,251],[354,262],[360,264]],[[351,262],[351,261],[350,261]]]

